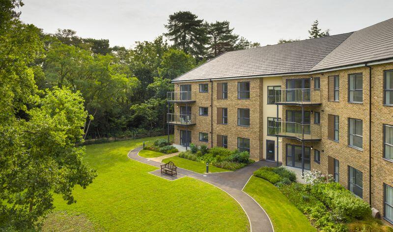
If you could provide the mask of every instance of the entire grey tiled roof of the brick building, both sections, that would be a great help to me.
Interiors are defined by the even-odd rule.
[[[173,81],[307,73],[393,57],[393,19],[356,32],[225,52]]]

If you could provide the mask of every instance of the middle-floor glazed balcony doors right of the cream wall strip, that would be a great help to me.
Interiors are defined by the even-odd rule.
[[[310,111],[304,111],[304,133],[310,133]],[[302,111],[301,110],[287,110],[286,111],[286,132],[288,133],[302,133]]]

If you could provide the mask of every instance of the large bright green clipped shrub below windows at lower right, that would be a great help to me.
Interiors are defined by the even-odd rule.
[[[362,219],[371,214],[367,203],[338,183],[315,184],[310,192],[344,221]]]

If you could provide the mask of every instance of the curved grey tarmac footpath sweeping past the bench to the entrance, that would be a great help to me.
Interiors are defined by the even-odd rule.
[[[138,155],[142,147],[136,148],[128,153],[130,159],[137,160],[155,167],[162,163],[148,160]],[[273,225],[263,208],[247,193],[243,192],[253,172],[262,166],[275,166],[276,163],[258,161],[234,172],[222,172],[211,174],[199,174],[186,169],[177,168],[177,173],[210,183],[232,196],[246,212],[252,232],[273,232]]]

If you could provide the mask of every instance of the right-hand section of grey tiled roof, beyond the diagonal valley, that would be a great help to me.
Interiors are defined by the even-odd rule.
[[[310,71],[393,57],[393,18],[353,32]]]

